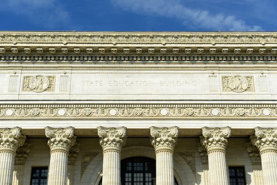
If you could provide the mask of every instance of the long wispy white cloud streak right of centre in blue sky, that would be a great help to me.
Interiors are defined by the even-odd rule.
[[[251,0],[245,0],[251,1]],[[247,25],[233,15],[212,14],[206,10],[189,8],[179,0],[111,0],[114,5],[137,14],[177,18],[188,27],[228,31],[260,31],[260,26]]]

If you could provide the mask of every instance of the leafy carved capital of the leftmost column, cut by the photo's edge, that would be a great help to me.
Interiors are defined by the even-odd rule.
[[[25,142],[26,136],[22,135],[20,127],[0,128],[0,151],[16,152]]]

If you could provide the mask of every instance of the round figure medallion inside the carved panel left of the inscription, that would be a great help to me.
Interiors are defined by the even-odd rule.
[[[32,77],[29,81],[29,88],[36,93],[40,93],[46,90],[48,86],[48,78],[42,75],[36,75]]]

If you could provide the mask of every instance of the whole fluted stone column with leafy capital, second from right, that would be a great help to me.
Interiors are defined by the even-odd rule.
[[[230,137],[231,128],[202,128],[201,144],[207,149],[209,160],[209,184],[228,185],[229,175],[226,165],[225,150]]]

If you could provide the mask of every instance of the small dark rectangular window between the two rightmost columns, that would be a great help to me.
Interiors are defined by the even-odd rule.
[[[244,167],[229,167],[230,185],[246,185]]]

